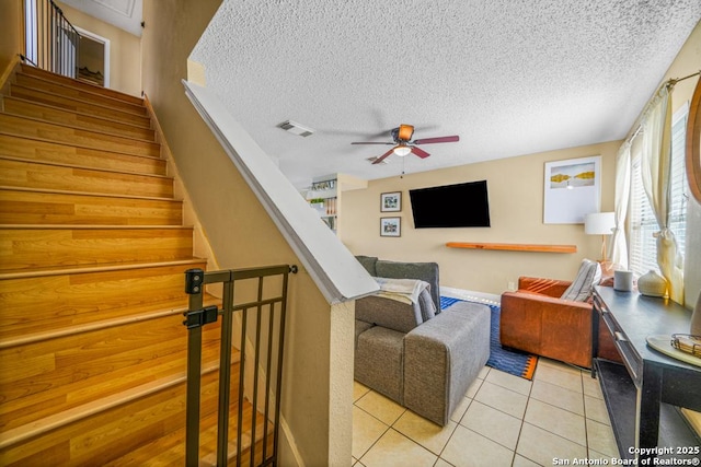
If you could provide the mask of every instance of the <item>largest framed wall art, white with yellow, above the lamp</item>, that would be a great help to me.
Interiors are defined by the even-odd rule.
[[[543,223],[583,224],[584,217],[599,212],[601,156],[547,162]]]

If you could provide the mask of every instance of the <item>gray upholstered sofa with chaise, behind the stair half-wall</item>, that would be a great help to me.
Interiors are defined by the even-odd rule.
[[[415,303],[356,301],[355,378],[445,425],[490,358],[490,308],[468,302],[440,311],[438,265],[358,256],[377,278],[428,283]]]

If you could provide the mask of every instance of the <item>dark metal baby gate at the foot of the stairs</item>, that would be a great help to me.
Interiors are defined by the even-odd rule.
[[[205,464],[215,464],[215,457],[217,466],[233,463],[229,451],[234,448],[237,466],[242,465],[242,456],[248,456],[248,465],[277,464],[285,314],[290,272],[297,272],[297,267],[281,265],[214,272],[202,269],[185,271],[185,292],[189,294],[188,311],[184,313],[183,322],[188,329],[187,466],[198,466],[203,460],[199,445],[203,327],[217,323],[219,316],[217,447],[215,453],[207,456]],[[208,285],[207,291],[205,285]],[[208,292],[220,297],[214,299]],[[206,296],[207,301],[220,301],[221,308],[217,304],[204,306]],[[240,336],[235,339],[234,335]],[[238,390],[234,397],[238,397],[238,404],[235,413],[231,413],[232,364],[235,367],[237,363],[232,355],[237,354]],[[248,410],[244,409],[246,401],[250,404]],[[233,437],[229,431],[232,415],[235,416],[235,442],[229,440]],[[243,428],[249,423],[250,432],[244,434]]]

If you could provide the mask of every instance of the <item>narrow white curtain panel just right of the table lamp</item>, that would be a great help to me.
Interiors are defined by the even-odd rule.
[[[616,157],[616,227],[611,240],[611,262],[628,269],[625,215],[631,192],[631,143],[625,142]]]

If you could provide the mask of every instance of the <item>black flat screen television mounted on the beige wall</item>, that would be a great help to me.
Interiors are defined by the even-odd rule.
[[[415,229],[489,227],[486,180],[409,190]]]

